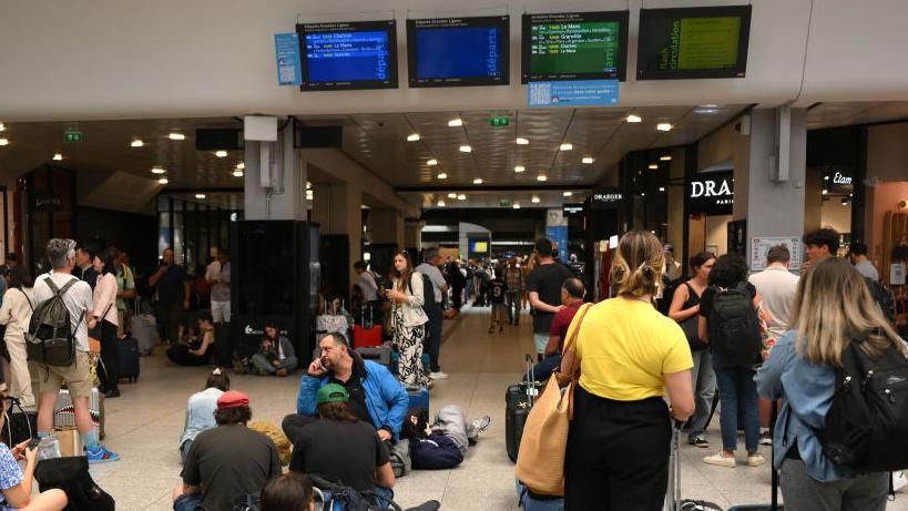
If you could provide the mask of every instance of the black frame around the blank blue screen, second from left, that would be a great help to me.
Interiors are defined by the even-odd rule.
[[[501,52],[499,62],[501,67],[501,79],[492,78],[446,78],[419,80],[417,69],[416,32],[419,28],[441,28],[445,24],[462,22],[460,27],[496,27],[499,29],[499,45]],[[417,27],[421,24],[421,27]],[[407,83],[410,89],[448,88],[448,86],[492,86],[511,84],[511,17],[510,16],[483,16],[472,18],[427,18],[407,20]]]

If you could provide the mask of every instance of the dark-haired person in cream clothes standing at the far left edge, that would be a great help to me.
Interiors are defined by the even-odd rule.
[[[19,398],[24,408],[34,408],[34,394],[31,389],[31,375],[25,352],[25,331],[29,329],[31,314],[34,311],[34,280],[25,266],[13,266],[10,269],[10,285],[3,294],[0,307],[0,325],[7,326],[3,341],[10,354],[9,380],[10,396]]]

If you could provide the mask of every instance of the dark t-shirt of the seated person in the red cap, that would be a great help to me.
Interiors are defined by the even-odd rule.
[[[202,487],[206,510],[228,511],[237,495],[258,494],[280,471],[280,460],[268,437],[242,425],[229,425],[198,433],[181,477],[185,484]]]

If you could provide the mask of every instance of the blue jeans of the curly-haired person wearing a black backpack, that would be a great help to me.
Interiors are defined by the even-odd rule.
[[[749,367],[716,367],[718,386],[720,421],[722,448],[734,451],[737,448],[738,408],[744,423],[744,446],[754,452],[759,442],[759,410],[757,406],[756,371]]]

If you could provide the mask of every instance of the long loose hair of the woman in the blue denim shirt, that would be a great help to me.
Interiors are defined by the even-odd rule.
[[[798,333],[798,355],[814,364],[840,367],[851,339],[867,335],[863,346],[871,357],[889,345],[905,350],[864,277],[845,259],[828,257],[812,265],[798,283],[790,321]]]

